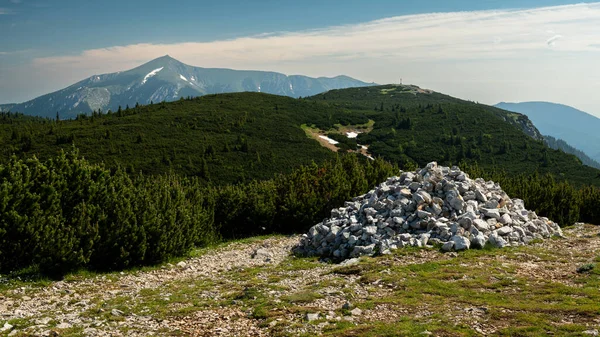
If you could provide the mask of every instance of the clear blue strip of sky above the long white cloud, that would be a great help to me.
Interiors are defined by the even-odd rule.
[[[560,0],[0,0],[3,52],[64,54],[132,43],[211,41],[386,17],[568,4]],[[38,54],[39,55],[39,54]]]

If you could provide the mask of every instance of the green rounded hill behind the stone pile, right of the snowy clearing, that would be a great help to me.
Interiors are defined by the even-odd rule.
[[[387,85],[332,90],[306,100],[375,121],[371,132],[358,136],[358,143],[369,145],[372,155],[400,167],[409,163],[423,167],[431,161],[447,166],[467,162],[484,170],[551,173],[578,186],[600,186],[600,171],[523,132],[529,125],[526,116],[411,88]]]

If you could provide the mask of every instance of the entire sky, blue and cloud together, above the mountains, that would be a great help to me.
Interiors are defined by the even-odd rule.
[[[156,57],[411,83],[600,117],[600,3],[558,0],[0,0],[0,103]]]

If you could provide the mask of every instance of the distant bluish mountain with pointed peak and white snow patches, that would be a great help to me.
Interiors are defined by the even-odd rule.
[[[331,89],[366,86],[347,76],[311,78],[276,72],[200,68],[163,56],[137,68],[94,75],[65,89],[16,104],[13,112],[63,119],[93,110],[113,110],[137,103],[173,101],[180,97],[255,91],[290,97]]]

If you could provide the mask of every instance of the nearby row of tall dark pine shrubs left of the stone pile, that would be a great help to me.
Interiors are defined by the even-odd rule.
[[[302,232],[395,172],[348,155],[268,181],[207,187],[174,174],[109,170],[76,151],[12,158],[0,165],[0,272],[122,269],[221,237]]]

